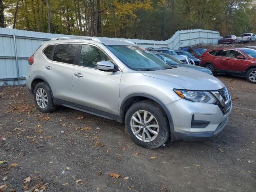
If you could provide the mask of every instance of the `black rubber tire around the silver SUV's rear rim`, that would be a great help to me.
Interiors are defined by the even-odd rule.
[[[42,88],[45,90],[46,94],[47,94],[47,104],[45,108],[42,108],[38,105],[37,101],[36,101],[36,92],[39,88]],[[52,99],[52,94],[51,94],[51,90],[50,87],[45,83],[45,82],[41,82],[38,83],[36,85],[36,87],[34,88],[34,101],[36,104],[36,107],[38,108],[38,110],[42,113],[48,113],[48,112],[52,112],[56,109],[56,105],[54,105],[53,99]]]

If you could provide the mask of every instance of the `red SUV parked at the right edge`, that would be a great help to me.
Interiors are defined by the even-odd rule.
[[[207,50],[200,66],[212,73],[245,76],[250,83],[256,83],[256,50],[248,48],[217,48]]]

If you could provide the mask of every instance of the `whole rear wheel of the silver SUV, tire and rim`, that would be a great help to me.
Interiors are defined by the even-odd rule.
[[[50,88],[45,82],[38,83],[34,88],[34,100],[40,112],[48,113],[56,109]]]

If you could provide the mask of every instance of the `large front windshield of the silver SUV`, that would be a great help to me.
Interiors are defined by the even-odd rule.
[[[171,67],[149,51],[138,46],[107,46],[126,66],[136,71],[153,71]]]

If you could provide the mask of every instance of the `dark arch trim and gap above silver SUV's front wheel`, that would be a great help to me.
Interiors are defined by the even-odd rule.
[[[167,109],[167,107],[158,98],[155,98],[154,96],[144,94],[144,93],[130,94],[122,101],[122,104],[119,109],[119,115],[122,118],[122,122],[124,122],[126,112],[130,108],[130,106],[142,100],[151,100],[160,106],[160,108],[163,110],[163,112],[166,114],[168,118],[168,124],[170,127],[170,131],[172,133],[174,131],[174,124],[173,124],[172,116],[169,110]]]

